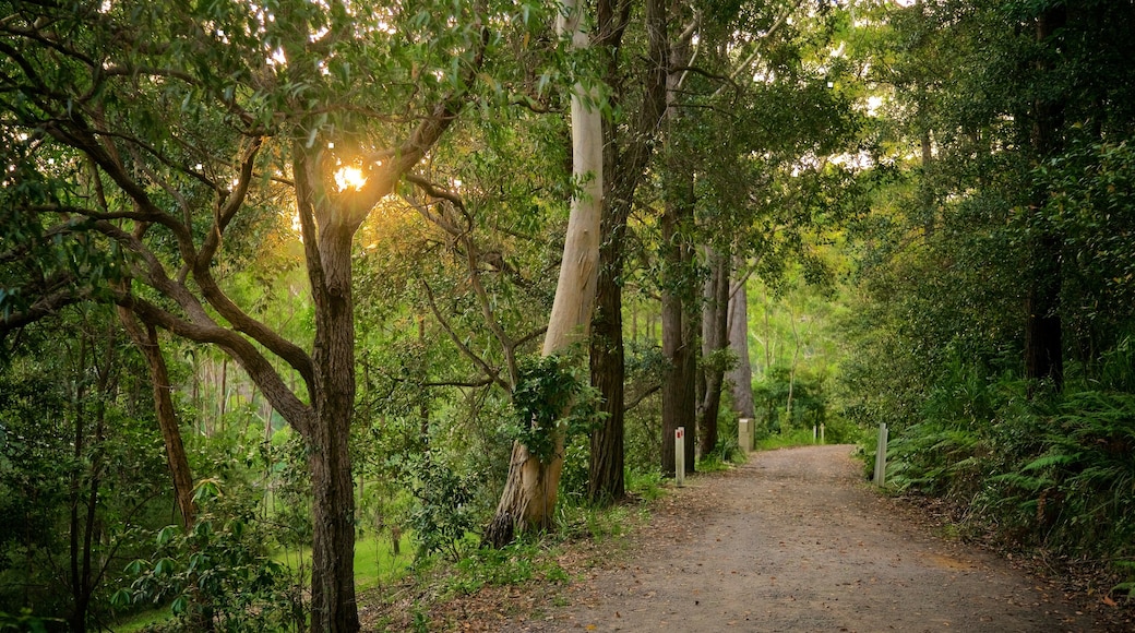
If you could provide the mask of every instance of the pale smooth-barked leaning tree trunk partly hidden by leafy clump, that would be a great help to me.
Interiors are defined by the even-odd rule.
[[[581,20],[583,5],[569,0],[564,9],[566,18],[561,15],[557,31],[571,34],[575,49],[587,48],[587,29]],[[545,356],[586,338],[595,306],[603,206],[603,121],[598,108],[590,106],[596,96],[580,84],[572,91],[572,175],[582,192],[571,203],[556,297],[544,338]],[[488,545],[501,547],[512,541],[518,532],[550,526],[563,471],[564,445],[563,431],[553,432],[556,433],[553,438],[555,450],[548,462],[541,462],[519,441],[513,444],[504,491],[485,529]]]

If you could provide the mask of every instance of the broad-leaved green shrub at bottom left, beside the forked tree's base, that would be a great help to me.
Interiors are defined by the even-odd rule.
[[[117,607],[169,604],[187,631],[302,630],[299,586],[269,556],[272,534],[254,508],[226,498],[216,480],[199,482],[194,500],[201,513],[193,528],[158,531],[153,555],[127,567],[135,580],[111,601]]]

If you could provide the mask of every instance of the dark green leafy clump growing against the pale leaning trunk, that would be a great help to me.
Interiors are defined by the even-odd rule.
[[[529,356],[512,394],[514,416],[501,431],[546,464],[560,432],[572,437],[591,430],[597,398],[590,378],[570,355]]]

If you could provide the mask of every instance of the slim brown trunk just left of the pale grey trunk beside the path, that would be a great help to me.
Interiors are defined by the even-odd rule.
[[[701,305],[701,355],[711,358],[729,348],[729,252],[715,251],[706,246],[706,263],[709,278],[705,281]],[[703,362],[705,390],[698,403],[698,441],[701,455],[708,455],[717,446],[717,413],[721,410],[721,390],[725,370],[720,363]]]

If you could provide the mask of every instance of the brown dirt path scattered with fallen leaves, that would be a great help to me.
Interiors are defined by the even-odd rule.
[[[860,480],[850,450],[758,453],[689,480],[628,560],[573,583],[569,606],[503,630],[1111,630],[1049,583],[913,521]]]

